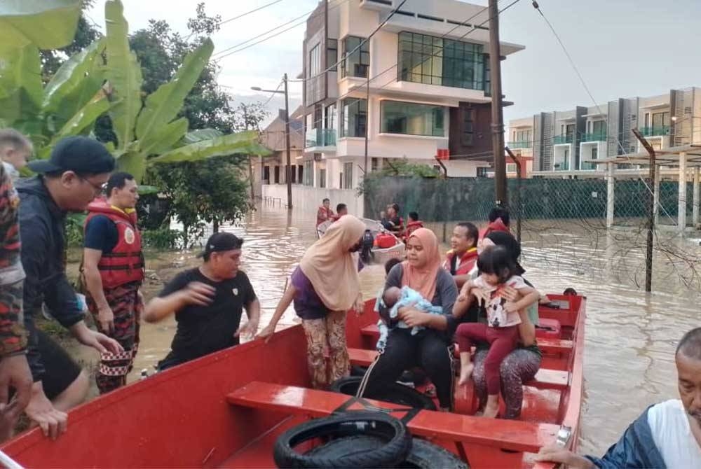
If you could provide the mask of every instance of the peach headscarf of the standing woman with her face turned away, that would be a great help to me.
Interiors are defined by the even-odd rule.
[[[342,216],[299,261],[299,268],[331,311],[347,311],[358,300],[358,260],[348,250],[358,244],[364,232],[365,223],[353,215]]]

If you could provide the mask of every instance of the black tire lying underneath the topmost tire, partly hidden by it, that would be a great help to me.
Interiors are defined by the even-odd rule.
[[[352,436],[338,438],[326,444],[315,447],[307,454],[312,456],[326,456],[327,458],[341,458],[347,455],[362,454],[379,448],[382,441],[372,436]],[[411,442],[411,452],[397,468],[419,469],[470,469],[470,466],[460,460],[450,451],[429,443],[426,440],[414,438]]]

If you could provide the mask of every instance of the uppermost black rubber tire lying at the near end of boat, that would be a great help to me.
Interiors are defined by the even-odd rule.
[[[365,435],[379,441],[370,451],[329,457],[299,454],[298,444],[318,437],[356,437]],[[411,434],[404,423],[382,412],[345,412],[313,419],[290,428],[278,437],[273,460],[278,468],[393,468],[411,451]]]

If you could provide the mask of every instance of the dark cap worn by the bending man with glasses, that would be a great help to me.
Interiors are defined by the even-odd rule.
[[[72,171],[76,174],[103,174],[114,171],[114,157],[107,148],[88,137],[67,137],[56,144],[48,160],[27,163],[35,173]]]

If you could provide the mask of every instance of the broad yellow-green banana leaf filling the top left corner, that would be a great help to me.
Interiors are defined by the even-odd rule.
[[[0,1],[0,45],[57,49],[73,41],[81,0]]]

